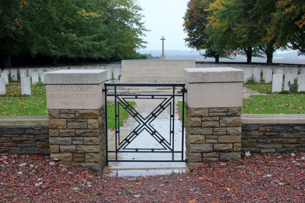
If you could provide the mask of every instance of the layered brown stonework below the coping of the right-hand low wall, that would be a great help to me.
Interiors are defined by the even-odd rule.
[[[305,152],[305,124],[242,124],[242,152]]]

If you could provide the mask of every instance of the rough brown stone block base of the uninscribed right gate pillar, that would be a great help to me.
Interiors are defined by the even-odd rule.
[[[240,159],[241,107],[186,108],[186,158],[190,170],[207,162]]]

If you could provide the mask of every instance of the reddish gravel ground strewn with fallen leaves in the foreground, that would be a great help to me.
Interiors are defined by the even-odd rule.
[[[114,177],[49,157],[0,155],[1,202],[305,202],[304,153],[251,155],[190,173]]]

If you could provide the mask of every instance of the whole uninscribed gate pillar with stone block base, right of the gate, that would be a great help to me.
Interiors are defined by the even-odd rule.
[[[240,159],[243,71],[186,68],[184,77],[189,169],[206,162]]]

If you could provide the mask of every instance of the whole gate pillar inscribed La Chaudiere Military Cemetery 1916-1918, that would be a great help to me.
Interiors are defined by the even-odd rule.
[[[51,159],[101,171],[106,163],[106,70],[45,74]]]

